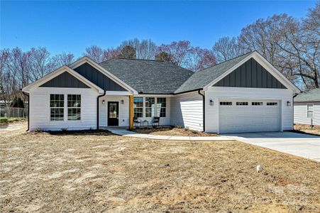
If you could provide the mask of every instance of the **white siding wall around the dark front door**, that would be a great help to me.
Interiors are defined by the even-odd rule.
[[[103,100],[104,104],[102,104]],[[99,98],[99,126],[108,126],[108,102],[119,102],[119,126],[129,126],[129,97],[125,95],[105,95]]]

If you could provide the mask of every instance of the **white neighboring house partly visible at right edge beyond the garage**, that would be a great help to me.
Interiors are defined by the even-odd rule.
[[[294,124],[320,125],[320,89],[304,91],[294,97]]]

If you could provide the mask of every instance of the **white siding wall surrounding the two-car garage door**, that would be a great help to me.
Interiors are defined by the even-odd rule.
[[[209,87],[206,94],[206,132],[219,133],[219,101],[226,99],[275,100],[280,102],[280,131],[293,128],[292,91],[289,89],[263,89],[240,87]],[[211,106],[209,101],[213,100]],[[291,106],[287,107],[287,102]],[[237,119],[237,118],[235,118]]]

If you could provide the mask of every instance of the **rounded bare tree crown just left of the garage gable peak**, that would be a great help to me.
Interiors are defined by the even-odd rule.
[[[214,43],[212,51],[216,57],[216,62],[224,62],[243,54],[243,51],[238,45],[238,40],[229,37],[219,38],[219,40]]]

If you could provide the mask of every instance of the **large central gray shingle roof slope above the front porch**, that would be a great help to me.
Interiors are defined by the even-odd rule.
[[[136,91],[149,94],[172,94],[194,73],[157,60],[114,58],[99,65]]]

